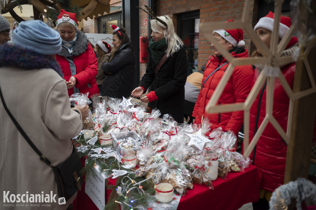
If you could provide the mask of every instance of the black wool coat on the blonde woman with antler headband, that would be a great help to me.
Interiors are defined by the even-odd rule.
[[[146,91],[153,83],[152,90],[158,97],[158,100],[149,103],[149,107],[152,109],[157,107],[161,114],[170,114],[178,123],[183,123],[184,85],[188,73],[185,48],[181,47],[178,52],[167,58],[159,69],[157,77],[155,77],[157,65],[151,59],[150,49],[147,49],[149,53],[148,64],[139,86],[145,88]]]

